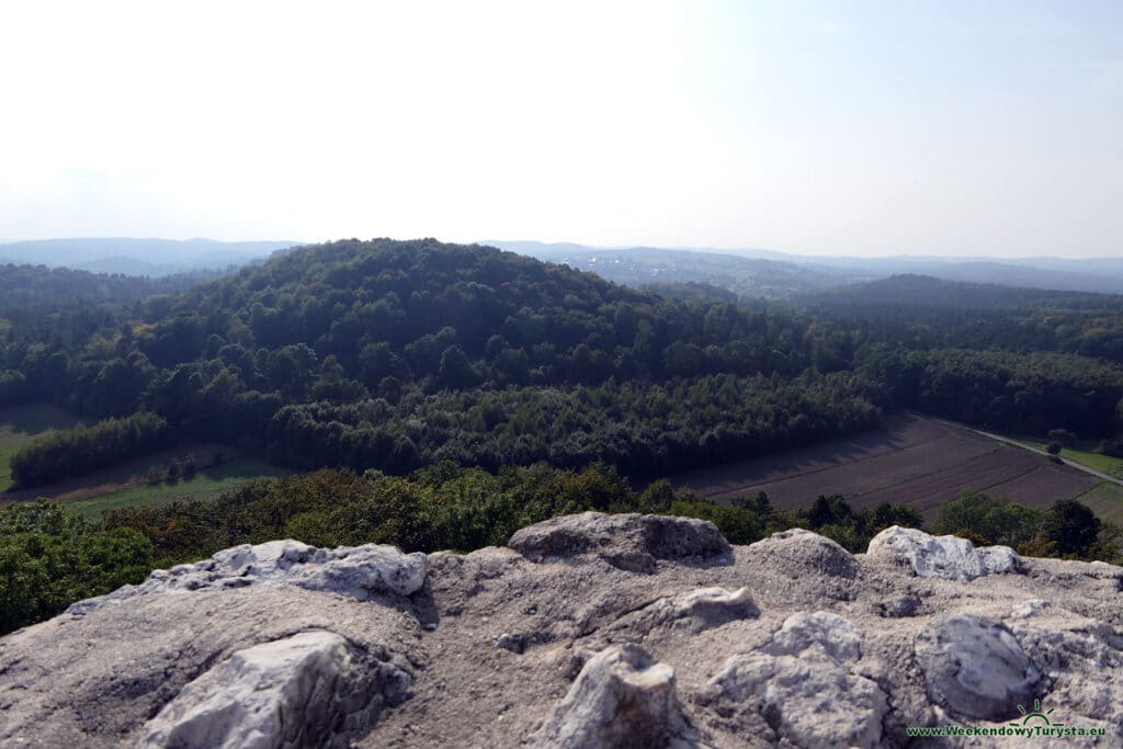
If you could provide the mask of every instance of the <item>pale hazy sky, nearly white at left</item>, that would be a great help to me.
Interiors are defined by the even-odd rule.
[[[7,2],[0,238],[1123,256],[1123,2]]]

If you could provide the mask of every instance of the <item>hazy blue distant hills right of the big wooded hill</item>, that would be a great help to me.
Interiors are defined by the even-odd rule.
[[[870,258],[787,255],[757,248],[590,247],[494,239],[481,244],[565,263],[617,283],[636,286],[668,281],[702,283],[728,289],[740,296],[789,296],[903,274],[1023,289],[1123,293],[1123,257]]]

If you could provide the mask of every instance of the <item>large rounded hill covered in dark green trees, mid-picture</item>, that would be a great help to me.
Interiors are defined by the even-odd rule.
[[[300,248],[80,322],[51,334],[16,326],[0,402],[150,417],[17,456],[22,485],[168,435],[236,441],[301,467],[603,459],[654,474],[880,417],[857,376],[824,374],[844,362],[824,355],[827,332],[801,316],[665,299],[432,239]],[[95,460],[75,457],[92,442]]]

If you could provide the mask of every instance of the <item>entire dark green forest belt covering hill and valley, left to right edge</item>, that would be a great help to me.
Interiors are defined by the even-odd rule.
[[[645,477],[901,408],[1106,446],[1120,432],[1117,296],[898,276],[794,305],[733,303],[433,239],[304,247],[131,302],[120,278],[102,278],[121,290],[98,301],[90,274],[9,274],[52,305],[4,318],[0,405],[163,424],[113,449],[95,445],[109,426],[33,446],[13,463],[25,487],[170,435],[299,468],[601,460]]]

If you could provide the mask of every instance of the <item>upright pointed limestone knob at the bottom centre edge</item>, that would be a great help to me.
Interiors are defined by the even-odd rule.
[[[675,669],[632,643],[611,646],[582,668],[531,747],[701,747],[675,694]]]

